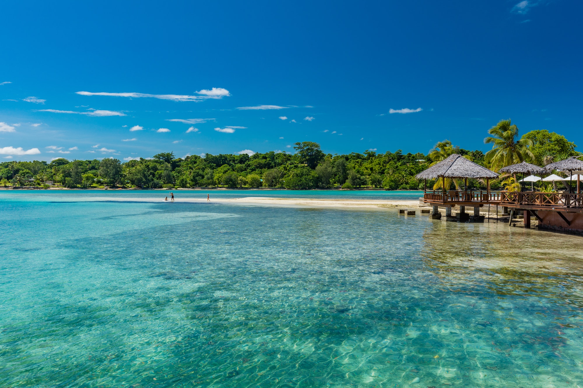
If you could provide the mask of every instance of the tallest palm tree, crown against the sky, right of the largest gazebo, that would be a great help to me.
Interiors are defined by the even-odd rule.
[[[533,160],[535,157],[529,147],[532,140],[518,139],[518,127],[508,120],[501,120],[488,130],[492,136],[486,137],[484,143],[493,143],[492,149],[486,153],[486,162],[491,163],[494,171],[507,165]]]

